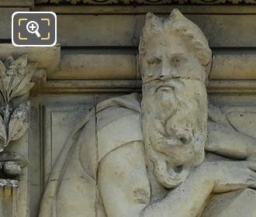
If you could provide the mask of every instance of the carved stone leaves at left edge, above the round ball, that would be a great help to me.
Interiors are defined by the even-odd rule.
[[[19,140],[29,127],[26,98],[34,85],[31,78],[36,67],[36,63],[28,63],[26,54],[0,61],[0,152],[10,141]]]

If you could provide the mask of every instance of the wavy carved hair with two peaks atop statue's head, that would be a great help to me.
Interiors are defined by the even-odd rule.
[[[185,18],[178,9],[173,9],[168,19],[157,17],[153,13],[147,13],[142,36],[140,36],[140,62],[147,53],[149,41],[157,37],[159,33],[176,33],[189,44],[195,57],[203,66],[209,65],[212,60],[212,51],[202,31],[192,21]]]

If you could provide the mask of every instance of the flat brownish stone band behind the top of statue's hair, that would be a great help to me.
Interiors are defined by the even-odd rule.
[[[255,47],[256,15],[187,16],[202,29],[210,47]],[[57,15],[57,18],[57,42],[62,46],[137,47],[144,26],[144,15]]]

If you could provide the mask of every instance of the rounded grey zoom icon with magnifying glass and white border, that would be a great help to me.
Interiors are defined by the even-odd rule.
[[[12,44],[16,47],[52,47],[56,44],[54,12],[14,12]]]

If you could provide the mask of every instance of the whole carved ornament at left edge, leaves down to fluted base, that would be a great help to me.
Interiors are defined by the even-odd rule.
[[[37,69],[28,62],[28,55],[0,61],[0,215],[17,216],[20,201],[19,181],[22,167],[28,164],[26,157],[16,149],[12,141],[21,140],[29,128],[29,91]],[[24,146],[22,146],[24,148]],[[24,180],[22,180],[24,181]],[[21,197],[22,198],[22,197]]]

